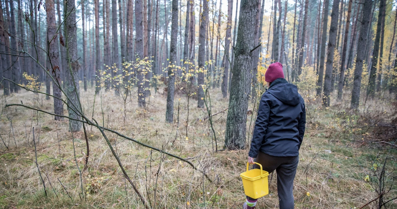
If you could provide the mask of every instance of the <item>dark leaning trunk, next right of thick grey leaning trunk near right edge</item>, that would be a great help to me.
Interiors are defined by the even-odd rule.
[[[376,66],[378,65],[379,42],[380,42],[382,20],[384,14],[383,10],[385,9],[386,9],[386,0],[380,0],[378,24],[376,26],[376,36],[374,42],[374,51],[372,52],[372,65],[371,65],[370,78],[368,81],[368,88],[367,88],[367,96],[370,97],[374,97],[375,82],[376,82]]]

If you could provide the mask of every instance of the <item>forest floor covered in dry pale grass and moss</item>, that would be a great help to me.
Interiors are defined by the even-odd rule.
[[[146,99],[149,103],[146,109],[137,106],[135,91],[132,102],[126,105],[124,122],[124,105],[120,96],[115,96],[112,90],[102,90],[93,107],[93,92],[91,88],[87,92],[81,90],[82,103],[89,118],[93,116],[105,127],[189,159],[197,166],[198,171],[176,158],[105,132],[127,174],[153,208],[241,208],[245,195],[239,174],[246,169],[248,149],[222,150],[227,111],[213,117],[215,142],[208,119],[204,120],[208,115],[206,109],[197,108],[197,100],[193,98],[189,101],[187,119],[187,97],[175,95],[175,123],[169,124],[165,122],[166,93],[163,89],[156,94],[152,91],[152,96]],[[220,90],[210,90],[210,94],[213,114],[227,108],[228,100],[222,99]],[[25,90],[2,99],[0,134],[9,149],[1,144],[0,208],[144,208],[131,185],[125,181],[98,129],[87,127],[90,155],[81,185],[76,161],[83,169],[86,153],[84,133],[77,132],[72,136],[68,132],[67,119],[54,121],[50,115],[24,107],[4,108],[5,104],[21,104],[21,101],[24,105],[53,111],[52,99],[46,100],[45,96]],[[255,121],[254,106],[255,103],[250,102],[249,110],[254,114],[248,115],[247,144]],[[378,197],[376,176],[379,176],[386,157],[384,182],[386,191],[390,188],[390,192],[384,198],[395,198],[397,184],[393,180],[397,176],[397,150],[380,149],[360,142],[375,129],[358,124],[360,116],[344,111],[343,105],[320,106],[319,101],[306,102],[306,133],[294,183],[295,208],[362,207]],[[393,107],[382,104],[382,108],[374,105],[374,109],[386,112],[392,111]],[[67,114],[65,106],[64,113]],[[179,125],[176,122],[178,118]],[[35,164],[33,127],[37,163],[47,197]],[[216,144],[218,151],[215,151]],[[203,169],[212,182],[204,178]],[[84,195],[81,194],[81,186]],[[278,208],[276,174],[269,175],[269,191],[268,196],[260,198],[256,208]],[[371,208],[375,203],[365,208]],[[397,208],[397,200],[387,203],[387,208]]]

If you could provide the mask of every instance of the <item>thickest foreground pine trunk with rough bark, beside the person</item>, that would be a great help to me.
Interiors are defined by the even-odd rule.
[[[227,112],[225,147],[227,149],[245,148],[247,129],[247,109],[251,82],[252,52],[255,47],[254,31],[259,0],[241,1],[239,29],[235,47],[232,85],[229,110]]]

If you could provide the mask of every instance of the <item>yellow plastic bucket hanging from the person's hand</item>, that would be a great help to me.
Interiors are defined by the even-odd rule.
[[[262,165],[260,165],[259,163],[255,164],[260,166],[260,170],[252,169],[248,171],[249,164],[247,163],[247,171],[241,173],[240,176],[243,180],[245,195],[254,199],[258,199],[259,197],[263,197],[269,194],[269,173],[267,171],[263,171]]]

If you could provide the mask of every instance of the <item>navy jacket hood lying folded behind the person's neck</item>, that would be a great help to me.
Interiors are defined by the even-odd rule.
[[[295,106],[301,101],[301,95],[298,93],[298,88],[294,84],[283,82],[270,87],[267,92],[284,104]]]

